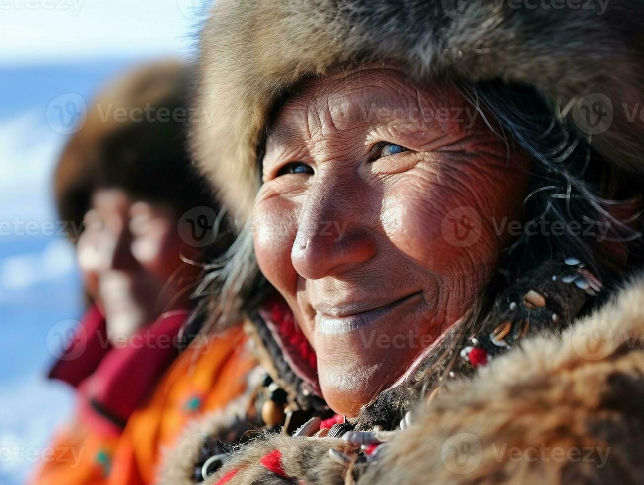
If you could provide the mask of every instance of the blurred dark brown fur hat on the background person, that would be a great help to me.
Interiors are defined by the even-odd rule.
[[[100,187],[120,187],[160,200],[179,213],[214,204],[207,183],[191,167],[185,121],[191,68],[159,61],[105,86],[73,135],[55,171],[55,195],[64,220],[81,227]],[[164,111],[162,111],[162,109]]]

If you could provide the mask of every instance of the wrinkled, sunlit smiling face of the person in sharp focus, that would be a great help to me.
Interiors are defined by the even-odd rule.
[[[355,415],[466,314],[521,214],[516,157],[455,88],[393,69],[308,82],[281,107],[255,249],[334,411]]]

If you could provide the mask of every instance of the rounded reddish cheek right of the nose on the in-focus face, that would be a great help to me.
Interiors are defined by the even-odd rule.
[[[506,184],[501,172],[453,173],[442,174],[440,184],[426,173],[399,180],[386,193],[381,221],[392,244],[421,267],[473,274],[494,265],[509,242],[498,227],[518,217],[526,185],[519,176]]]

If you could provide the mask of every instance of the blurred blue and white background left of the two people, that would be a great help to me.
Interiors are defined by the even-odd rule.
[[[89,100],[109,77],[141,61],[191,58],[204,14],[200,0],[0,3],[0,223],[57,221],[52,171],[68,135],[48,125],[50,102],[65,93]],[[20,450],[42,450],[73,409],[70,391],[43,375],[53,360],[48,333],[82,314],[70,243],[44,231],[23,233],[0,234],[3,485],[23,482],[33,463]]]

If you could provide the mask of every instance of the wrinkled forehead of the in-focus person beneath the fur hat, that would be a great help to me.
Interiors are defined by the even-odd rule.
[[[314,151],[318,142],[330,142],[330,137],[338,135],[350,137],[352,131],[365,127],[363,142],[382,130],[408,131],[415,124],[422,125],[419,131],[425,136],[430,131],[437,131],[433,138],[462,131],[463,127],[452,126],[453,122],[426,120],[422,115],[424,109],[435,113],[439,108],[449,109],[455,101],[462,104],[462,97],[457,93],[444,86],[424,90],[396,70],[384,69],[393,73],[393,77],[374,77],[374,73],[382,71],[374,68],[309,80],[302,90],[285,101],[269,137],[279,140],[280,144],[301,141]]]

